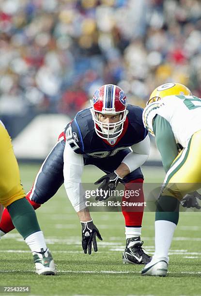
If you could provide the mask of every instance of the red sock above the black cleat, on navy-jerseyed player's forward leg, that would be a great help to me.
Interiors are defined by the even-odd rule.
[[[122,201],[128,201],[128,202],[144,202],[144,193],[143,193],[143,179],[135,179],[130,181],[125,185],[125,191],[126,190],[139,190],[139,196],[138,197],[129,197],[125,198],[125,191],[124,191],[124,197]],[[138,185],[132,185],[132,183],[138,183]],[[143,217],[143,211],[144,207],[136,207],[135,211],[131,211],[131,207],[122,207],[122,213],[124,215],[125,219],[125,226],[141,226],[142,224],[142,217]]]

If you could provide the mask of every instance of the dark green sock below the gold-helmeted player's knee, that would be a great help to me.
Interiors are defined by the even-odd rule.
[[[157,201],[155,221],[166,220],[177,225],[179,221],[179,201],[175,197],[162,195]]]

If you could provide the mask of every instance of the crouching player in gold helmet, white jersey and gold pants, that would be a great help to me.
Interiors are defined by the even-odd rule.
[[[166,276],[179,201],[201,186],[201,99],[179,83],[161,85],[152,92],[143,121],[155,135],[166,177],[155,213],[155,254],[141,274]]]

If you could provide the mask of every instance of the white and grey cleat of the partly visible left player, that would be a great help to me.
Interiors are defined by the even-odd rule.
[[[34,252],[33,261],[35,263],[37,274],[41,274],[41,275],[56,274],[56,267],[55,267],[52,255],[49,252],[49,249],[46,249],[45,252],[43,249],[41,249],[41,252]]]

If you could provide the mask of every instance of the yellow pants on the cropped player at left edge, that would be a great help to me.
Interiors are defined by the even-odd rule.
[[[0,204],[8,207],[15,200],[25,196],[11,138],[0,124]]]

